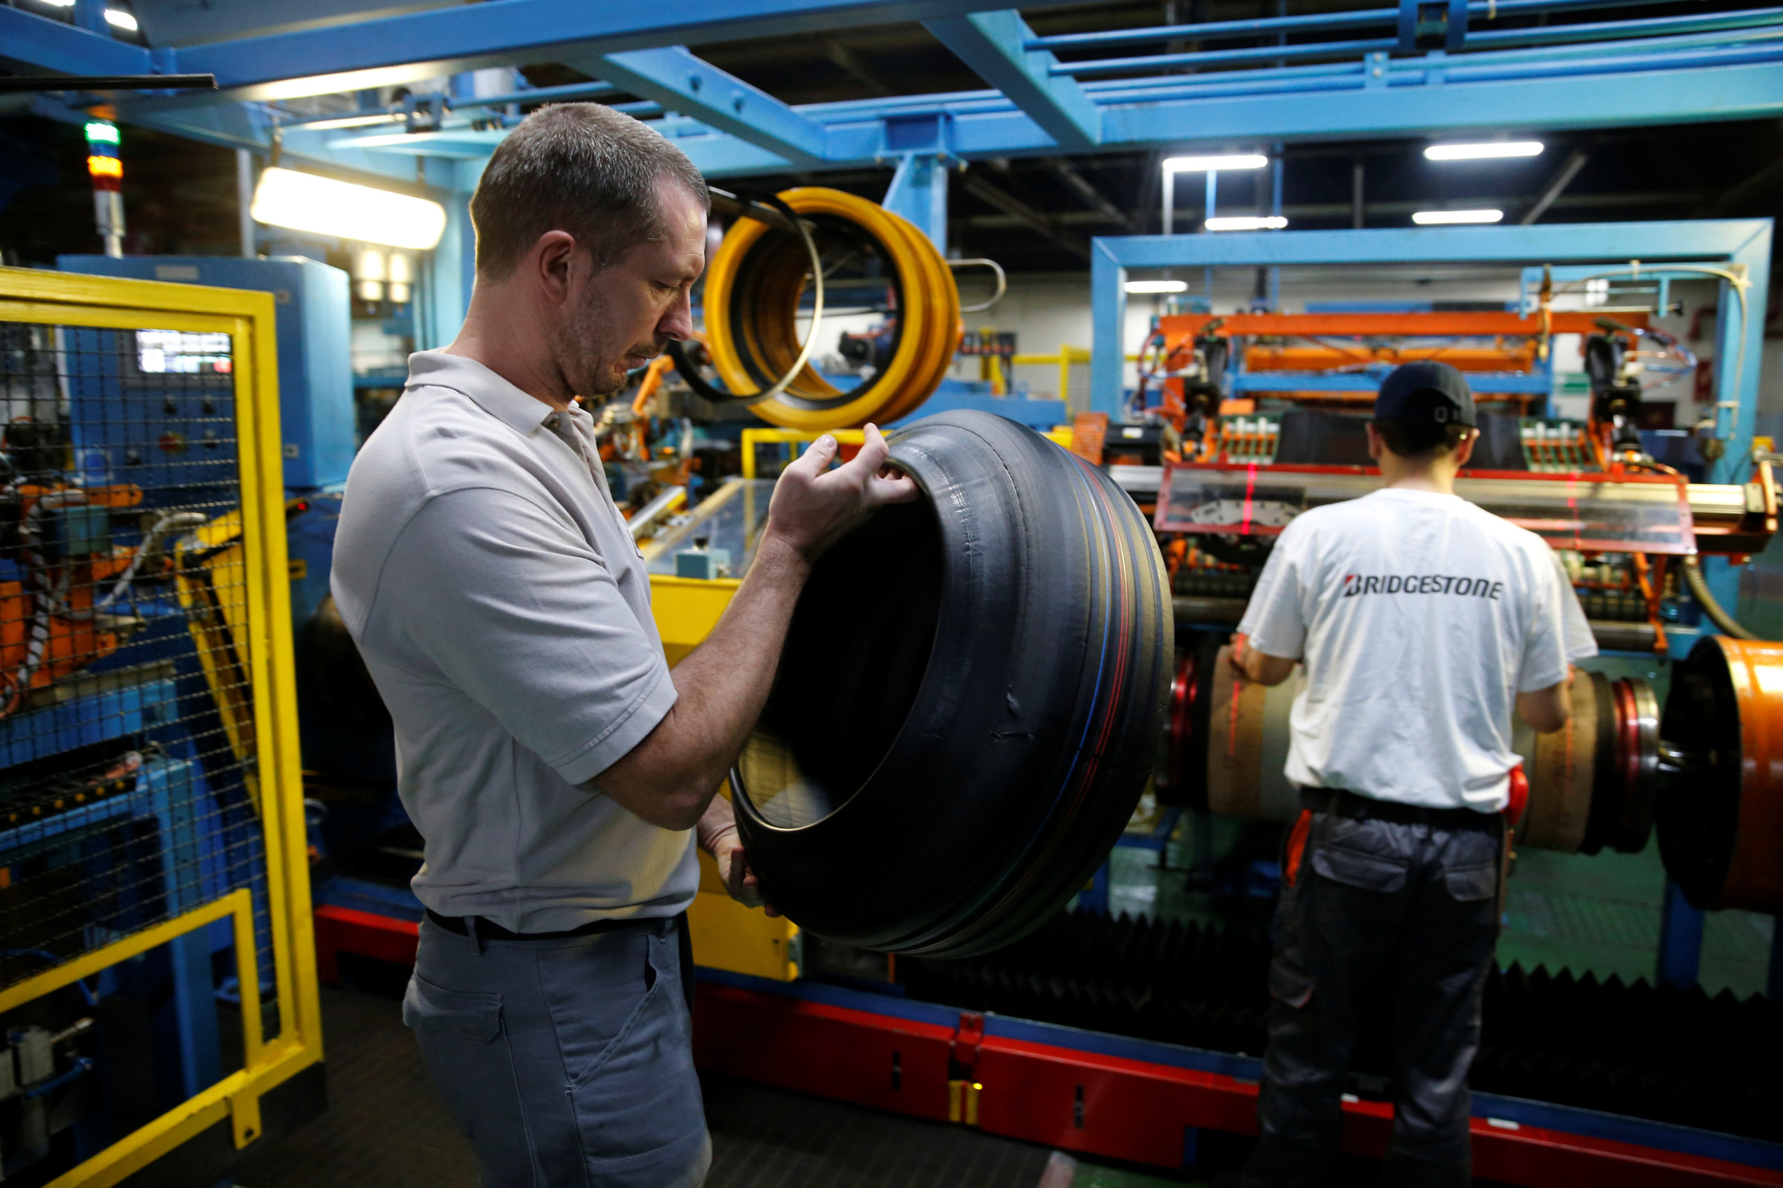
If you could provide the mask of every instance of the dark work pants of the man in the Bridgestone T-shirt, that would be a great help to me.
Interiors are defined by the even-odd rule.
[[[1262,1138],[1245,1184],[1319,1183],[1337,1152],[1359,1006],[1384,995],[1394,1117],[1382,1183],[1466,1186],[1467,1067],[1498,940],[1503,819],[1432,824],[1343,812],[1312,815],[1293,883],[1284,879],[1257,1102]]]

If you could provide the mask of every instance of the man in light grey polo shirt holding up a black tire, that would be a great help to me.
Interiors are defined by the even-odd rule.
[[[694,164],[629,116],[528,116],[471,200],[464,328],[410,359],[348,478],[333,594],[426,840],[403,1019],[492,1188],[704,1179],[679,922],[695,838],[752,899],[715,792],[811,562],[916,498],[872,426],[834,471],[818,439],[719,626],[669,671],[578,398],[692,334],[706,209]]]

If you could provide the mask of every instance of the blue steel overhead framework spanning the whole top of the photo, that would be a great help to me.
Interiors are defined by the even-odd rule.
[[[275,125],[289,123],[285,152],[292,157],[408,182],[414,164],[403,157],[419,153],[440,159],[428,166],[428,182],[456,191],[471,187],[474,168],[455,171],[451,161],[487,159],[512,123],[499,105],[517,102],[514,95],[480,102],[469,87],[455,87],[437,111],[439,123],[407,120],[414,114],[410,107],[396,136],[305,130],[271,103],[558,61],[601,78],[574,87],[587,95],[644,96],[637,114],[654,116],[713,177],[895,162],[897,125],[911,118],[941,125],[943,155],[977,159],[1234,139],[1619,127],[1783,111],[1779,7],[1537,29],[1494,25],[1507,16],[1590,9],[1601,2],[1453,0],[1432,20],[1434,5],[1401,0],[1398,7],[1355,12],[1038,37],[1020,12],[990,0],[658,0],[651,5],[490,0],[326,29],[144,48],[112,37],[103,20],[91,20],[102,0],[78,0],[75,14],[87,20],[73,23],[0,7],[0,66],[18,73],[214,73],[219,86],[214,95],[144,93],[118,103],[119,114],[259,150],[271,146]],[[150,30],[153,9],[144,5]],[[686,48],[892,21],[922,21],[993,89],[793,107]],[[1384,36],[1287,43],[1289,36],[1323,37],[1332,29],[1368,27],[1380,27]],[[1109,45],[1259,36],[1273,36],[1277,45],[1086,61],[1056,57],[1072,50],[1102,54]],[[1202,68],[1216,73],[1182,73]],[[292,77],[294,70],[303,77]],[[1164,70],[1171,73],[1159,73]],[[36,103],[39,112],[62,118],[78,118],[78,96]]]

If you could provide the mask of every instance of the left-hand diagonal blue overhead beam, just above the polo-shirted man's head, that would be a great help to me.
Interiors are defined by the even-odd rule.
[[[824,164],[829,130],[767,91],[688,54],[686,46],[606,54],[592,66],[608,82],[653,98],[797,168]]]

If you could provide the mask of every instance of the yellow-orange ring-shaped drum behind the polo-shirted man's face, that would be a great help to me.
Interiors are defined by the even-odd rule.
[[[678,350],[683,378],[701,394],[749,403],[763,421],[792,430],[883,425],[915,410],[947,375],[963,332],[947,260],[906,219],[838,189],[788,189],[776,207],[804,232],[788,219],[742,218],[706,269],[706,351],[729,391],[699,380]],[[804,362],[811,351],[799,339],[799,303],[813,255],[826,260],[826,273],[867,264],[859,271],[877,273],[870,284],[884,285],[895,319],[886,366],[847,391]],[[831,276],[829,284],[840,282]]]

